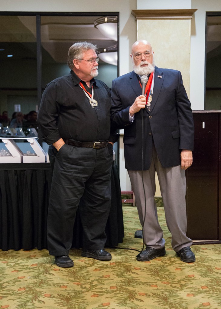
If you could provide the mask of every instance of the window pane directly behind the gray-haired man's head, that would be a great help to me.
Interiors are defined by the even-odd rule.
[[[106,17],[106,19],[108,18]],[[109,51],[108,48],[115,46],[117,58],[117,42],[114,40],[117,40],[117,16],[112,17],[109,23],[113,25],[116,38],[108,37],[110,29],[107,29],[105,33],[101,32],[98,26],[95,27],[95,20],[99,20],[100,23],[104,19],[105,17],[101,16],[41,16],[43,88],[53,79],[70,72],[67,66],[67,54],[68,49],[75,42],[91,42],[98,46],[99,52],[105,49],[106,54],[110,55],[110,57],[113,57],[113,53],[111,54],[112,50]],[[117,64],[108,64],[100,58],[98,71],[97,78],[102,79],[111,87],[112,80],[117,77]]]

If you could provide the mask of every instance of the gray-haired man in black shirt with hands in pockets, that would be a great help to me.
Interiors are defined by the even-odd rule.
[[[67,64],[71,72],[46,86],[37,118],[43,140],[51,144],[49,155],[56,156],[47,238],[49,254],[60,267],[74,265],[68,254],[80,199],[82,256],[111,260],[104,250],[115,142],[110,128],[110,89],[94,79],[98,75],[95,45],[73,44]]]

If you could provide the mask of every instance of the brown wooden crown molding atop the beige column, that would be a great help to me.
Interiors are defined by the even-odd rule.
[[[182,10],[132,10],[137,19],[191,19],[197,9]]]

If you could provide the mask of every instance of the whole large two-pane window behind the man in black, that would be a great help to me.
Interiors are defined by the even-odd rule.
[[[30,121],[34,121],[28,113],[32,111],[32,118],[36,119],[46,84],[70,72],[67,54],[75,42],[97,45],[98,79],[111,87],[119,75],[118,13],[46,14],[0,15],[0,123],[4,121],[0,130],[11,123],[17,112],[19,123],[24,122],[23,133],[28,134]],[[3,112],[7,112],[7,119],[2,117]],[[41,134],[39,143],[42,144]]]

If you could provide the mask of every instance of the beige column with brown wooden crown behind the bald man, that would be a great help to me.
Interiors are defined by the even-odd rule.
[[[179,70],[189,96],[190,31],[196,10],[132,10],[137,20],[137,40],[152,45],[155,65],[159,68]],[[156,197],[160,188],[156,176]]]

